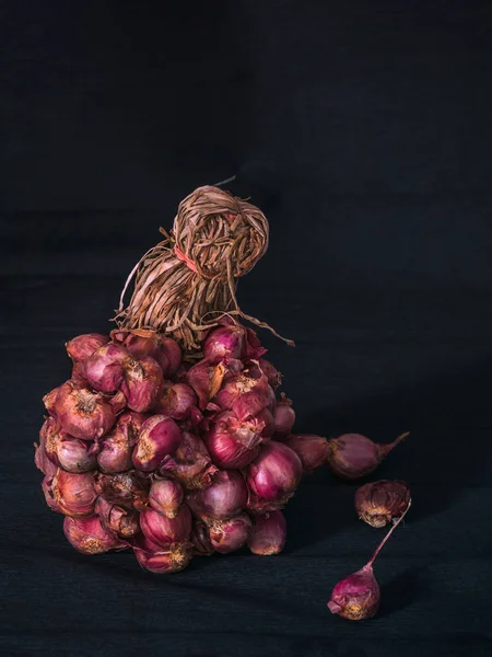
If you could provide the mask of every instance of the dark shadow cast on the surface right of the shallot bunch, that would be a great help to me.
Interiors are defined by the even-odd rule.
[[[324,482],[325,500],[304,488],[289,503],[304,528],[303,543],[324,538],[323,527],[307,527],[308,517],[321,526],[317,515],[330,500],[330,529],[333,533],[354,520],[353,495],[368,481],[401,479],[412,492],[412,522],[441,515],[461,497],[462,492],[485,473],[488,464],[466,449],[471,440],[481,440],[489,420],[489,378],[491,361],[483,358],[468,367],[430,374],[391,391],[375,391],[366,397],[321,408],[302,418],[300,430],[338,436],[359,431],[376,442],[390,442],[405,430],[410,431],[399,446],[367,477],[353,483],[341,482],[320,469],[315,476]],[[328,494],[329,488],[329,494]],[[333,505],[333,491],[347,488]],[[347,504],[345,504],[347,502]],[[313,512],[311,507],[314,505]],[[337,506],[337,508],[335,508]],[[317,520],[316,520],[317,519]]]

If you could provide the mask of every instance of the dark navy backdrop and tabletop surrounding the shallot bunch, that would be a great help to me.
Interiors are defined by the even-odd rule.
[[[3,655],[491,654],[491,27],[471,0],[2,2]],[[39,489],[63,343],[234,174],[271,226],[239,299],[297,343],[262,333],[297,430],[412,433],[373,477],[414,503],[365,623],[326,601],[382,533],[326,471],[281,556],[161,577],[75,553]]]

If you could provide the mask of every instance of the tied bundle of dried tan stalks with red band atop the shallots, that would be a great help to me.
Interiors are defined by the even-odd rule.
[[[256,206],[219,187],[198,187],[179,204],[171,233],[161,232],[166,239],[145,253],[127,279],[115,318],[120,327],[172,334],[191,353],[226,313],[285,339],[245,314],[236,300],[236,279],[268,249],[268,221]],[[133,276],[133,295],[124,308]]]

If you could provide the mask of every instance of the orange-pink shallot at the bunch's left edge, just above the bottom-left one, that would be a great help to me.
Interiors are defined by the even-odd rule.
[[[73,474],[59,468],[50,484],[51,497],[66,516],[82,518],[94,514],[97,493],[92,472]]]

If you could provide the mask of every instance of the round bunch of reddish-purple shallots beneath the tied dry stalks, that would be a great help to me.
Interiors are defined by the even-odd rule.
[[[154,573],[245,544],[282,550],[281,509],[329,445],[292,435],[281,377],[250,328],[225,319],[195,362],[143,330],[80,335],[67,351],[72,377],[44,397],[35,460],[77,550],[131,549]]]

